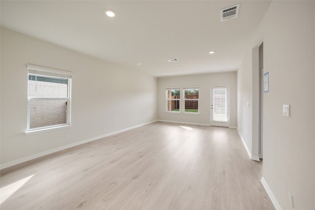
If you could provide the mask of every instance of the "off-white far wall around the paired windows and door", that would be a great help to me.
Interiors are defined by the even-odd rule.
[[[210,86],[230,86],[230,126],[237,126],[236,72],[158,78],[158,120],[210,124]],[[166,88],[199,87],[199,114],[166,112]]]

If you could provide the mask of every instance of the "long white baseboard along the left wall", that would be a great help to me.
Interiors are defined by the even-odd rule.
[[[107,133],[107,134],[104,134],[104,135],[101,135],[101,136],[96,136],[96,137],[93,137],[93,138],[90,138],[90,139],[86,139],[86,140],[83,140],[83,141],[80,141],[80,142],[75,142],[73,144],[65,145],[63,147],[59,147],[59,148],[55,148],[55,149],[52,149],[52,150],[39,152],[37,154],[33,154],[33,155],[30,155],[30,156],[27,156],[27,157],[23,157],[23,158],[20,158],[20,159],[17,159],[17,160],[13,160],[13,161],[10,161],[10,162],[7,162],[7,163],[3,163],[3,164],[0,165],[0,170],[8,168],[10,166],[14,166],[14,165],[26,162],[26,161],[29,161],[29,160],[32,160],[32,159],[35,159],[37,157],[41,157],[41,156],[44,156],[44,155],[47,155],[47,154],[51,154],[51,153],[54,153],[54,152],[57,152],[57,151],[60,151],[60,150],[65,150],[65,149],[68,149],[68,148],[72,148],[72,147],[75,147],[75,146],[78,146],[78,145],[82,145],[82,144],[85,144],[85,143],[88,143],[88,142],[92,142],[92,141],[95,141],[95,140],[98,140],[98,139],[101,139],[101,138],[104,138],[104,137],[108,137],[108,136],[111,136],[111,135],[114,135],[114,134],[122,133],[122,132],[125,132],[127,130],[131,130],[131,129],[134,129],[134,128],[137,128],[137,127],[141,127],[143,125],[147,125],[147,124],[150,124],[150,123],[153,123],[153,122],[156,122],[156,121],[157,120],[153,120],[153,121],[150,121],[150,122],[142,123],[142,124],[139,124],[139,125],[135,125],[135,126],[132,126],[132,127],[128,127],[128,128],[122,129],[122,130],[114,131],[114,132]]]

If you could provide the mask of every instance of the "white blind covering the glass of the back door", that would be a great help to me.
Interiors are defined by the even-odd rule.
[[[226,103],[226,89],[218,88],[213,90],[213,120],[227,121],[227,103]]]

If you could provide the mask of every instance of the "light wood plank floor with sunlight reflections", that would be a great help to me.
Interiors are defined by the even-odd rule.
[[[261,164],[235,129],[155,122],[2,170],[0,209],[273,210]]]

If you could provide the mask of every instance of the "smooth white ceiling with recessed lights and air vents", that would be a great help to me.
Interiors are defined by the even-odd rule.
[[[270,1],[0,3],[2,27],[161,77],[237,70]],[[238,18],[221,22],[220,10],[237,3]]]

